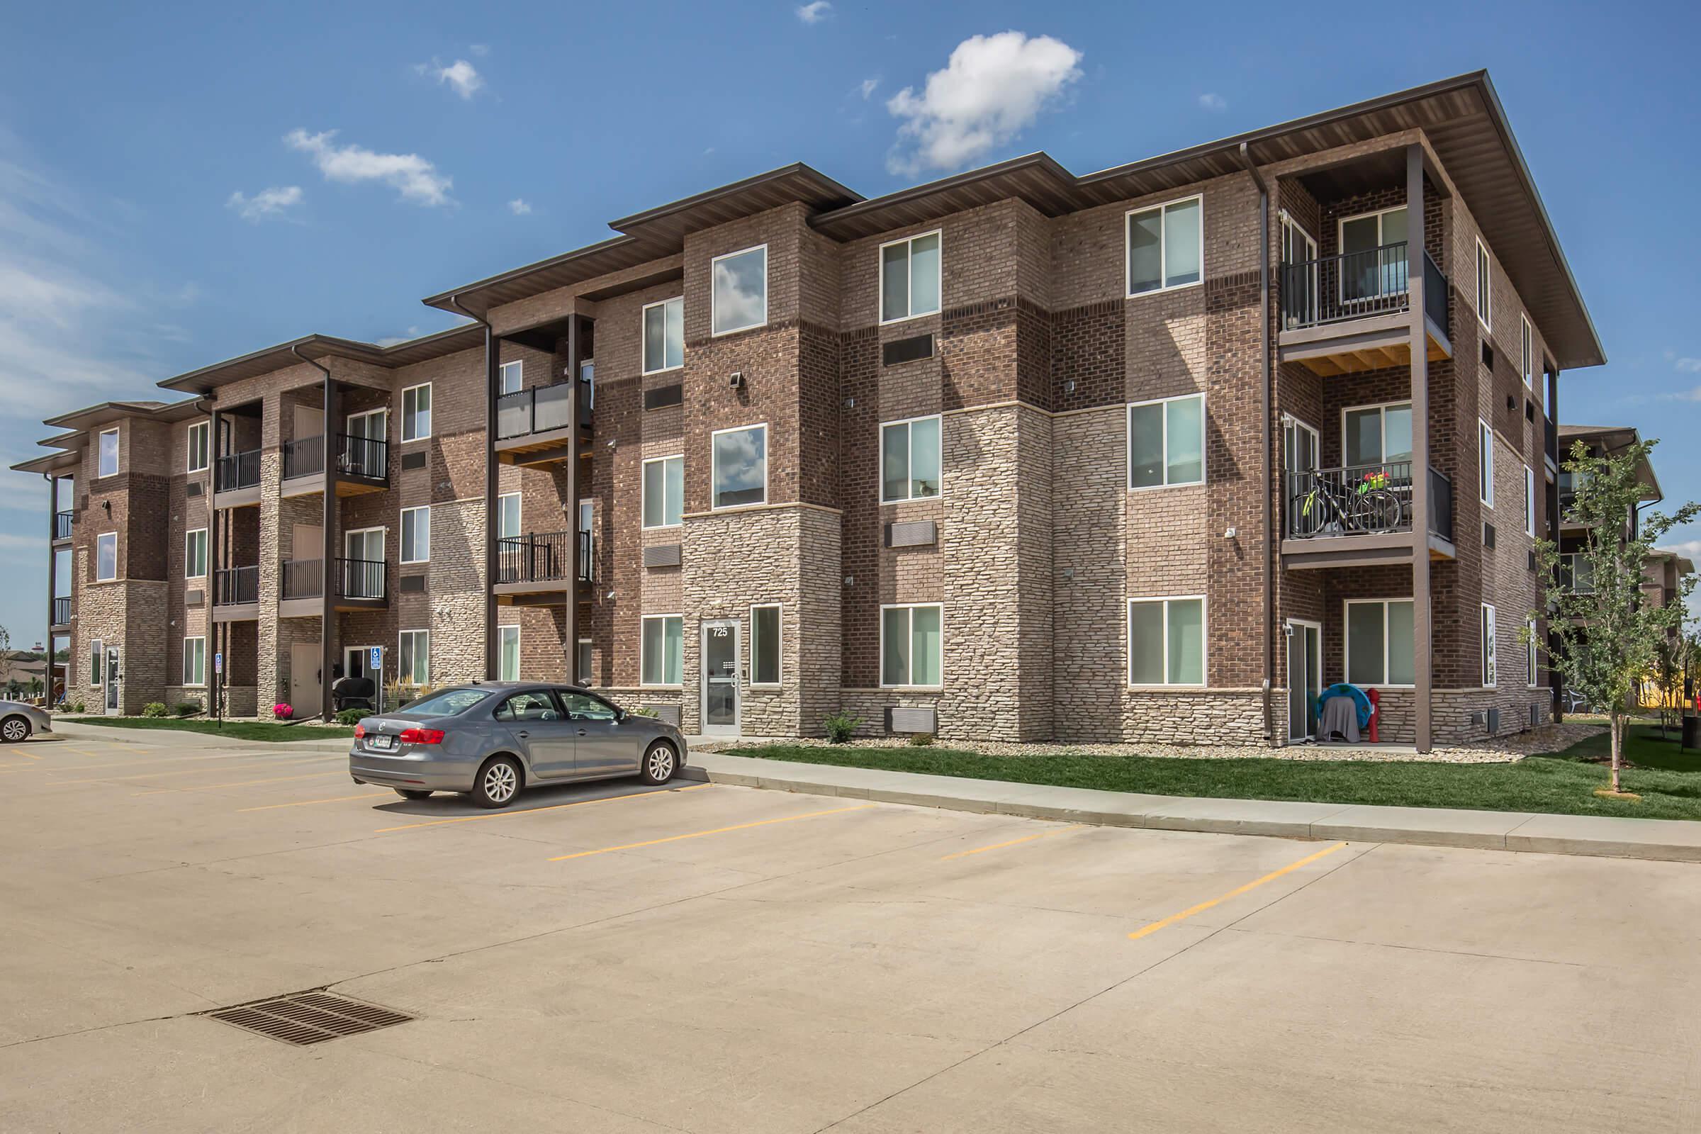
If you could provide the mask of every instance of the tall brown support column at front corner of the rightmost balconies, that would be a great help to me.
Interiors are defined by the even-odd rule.
[[[1412,318],[1412,670],[1417,750],[1431,750],[1429,335],[1424,330],[1424,148],[1405,148],[1405,279]],[[1454,532],[1458,536],[1458,532]]]

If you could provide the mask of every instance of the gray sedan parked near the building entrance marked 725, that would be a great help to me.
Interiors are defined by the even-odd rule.
[[[349,775],[407,799],[469,792],[481,808],[505,808],[522,789],[543,784],[616,775],[665,784],[684,757],[677,728],[583,689],[488,682],[442,689],[361,721]]]

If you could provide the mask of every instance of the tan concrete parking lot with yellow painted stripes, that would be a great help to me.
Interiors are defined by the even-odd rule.
[[[5,1131],[1692,1131],[1701,867],[0,746]],[[296,1047],[206,1013],[413,1017]]]

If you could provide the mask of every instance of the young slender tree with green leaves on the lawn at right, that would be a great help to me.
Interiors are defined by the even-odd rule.
[[[1548,668],[1611,719],[1614,792],[1621,791],[1626,711],[1636,680],[1657,670],[1669,631],[1682,627],[1682,598],[1694,587],[1686,578],[1681,600],[1665,607],[1643,602],[1641,570],[1653,544],[1701,512],[1694,503],[1670,513],[1650,512],[1631,539],[1631,517],[1643,491],[1636,469],[1655,444],[1638,440],[1599,457],[1589,456],[1582,442],[1572,445],[1563,468],[1573,476],[1577,496],[1565,519],[1584,527],[1575,570],[1562,575],[1558,544],[1536,541],[1546,610],[1534,617],[1548,619]],[[1579,585],[1585,580],[1587,585]]]

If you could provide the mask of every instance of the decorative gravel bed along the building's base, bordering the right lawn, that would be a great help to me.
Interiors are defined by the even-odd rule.
[[[1048,745],[1048,743],[1005,743],[1005,741],[936,741],[939,748],[964,748],[988,757],[1180,757],[1187,760],[1378,760],[1378,762],[1415,762],[1415,763],[1514,763],[1538,751],[1563,751],[1580,740],[1604,733],[1599,724],[1573,723],[1546,724],[1502,736],[1495,741],[1478,741],[1475,745],[1456,745],[1436,748],[1429,753],[1402,751],[1398,748],[1364,748],[1361,745],[1288,745],[1271,748],[1266,745]],[[697,751],[738,751],[740,748],[764,748],[769,743],[788,746],[825,748],[825,740],[776,740],[760,741],[754,738],[726,741],[696,741]],[[847,748],[907,748],[908,740],[902,736],[879,736],[857,740]]]

